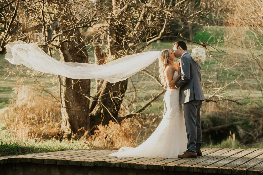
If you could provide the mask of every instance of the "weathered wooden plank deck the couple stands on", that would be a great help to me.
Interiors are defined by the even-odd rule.
[[[198,158],[117,158],[118,149],[83,149],[0,157],[0,174],[263,175],[263,149],[204,148]]]

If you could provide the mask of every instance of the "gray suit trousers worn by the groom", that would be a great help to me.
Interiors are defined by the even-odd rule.
[[[202,128],[200,108],[203,100],[191,100],[184,104],[184,118],[187,134],[187,150],[196,152],[201,149]]]

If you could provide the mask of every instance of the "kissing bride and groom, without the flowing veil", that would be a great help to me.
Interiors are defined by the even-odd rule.
[[[168,86],[164,95],[164,115],[159,126],[138,147],[121,147],[110,156],[148,158],[202,156],[200,108],[205,98],[201,86],[201,64],[192,59],[184,41],[176,41],[173,50],[174,52],[164,49],[159,56],[159,77],[161,83]],[[181,58],[180,63],[174,62],[176,58]]]

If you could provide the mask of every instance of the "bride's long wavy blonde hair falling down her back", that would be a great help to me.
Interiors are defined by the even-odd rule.
[[[162,54],[158,57],[159,59],[159,78],[161,78],[161,84],[163,84],[164,86],[166,86],[166,81],[165,81],[165,74],[164,74],[164,70],[168,64],[167,62],[167,57],[169,57],[169,49],[164,49],[161,51]]]

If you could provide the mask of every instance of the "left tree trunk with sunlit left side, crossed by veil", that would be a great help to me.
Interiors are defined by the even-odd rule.
[[[62,19],[67,20],[67,15],[63,15]],[[63,20],[60,19],[60,23],[63,24]],[[60,30],[65,30],[66,25],[60,26]],[[74,34],[73,34],[74,32]],[[79,29],[75,31],[71,30],[64,36],[74,36],[74,40],[78,43],[75,45],[74,42],[63,42],[59,49],[61,54],[61,60],[65,62],[80,62],[88,63],[88,53],[81,41],[81,33]],[[61,38],[60,38],[61,40]],[[71,79],[62,77],[60,80],[61,85],[61,114],[62,123],[61,130],[65,137],[70,137],[71,133],[76,134],[76,137],[81,137],[85,130],[89,129],[89,99],[82,92],[89,96],[90,94],[90,79]]]

